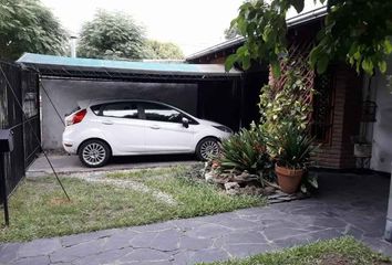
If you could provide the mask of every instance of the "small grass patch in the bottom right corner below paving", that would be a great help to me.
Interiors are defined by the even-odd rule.
[[[318,242],[246,259],[210,265],[386,265],[390,259],[372,252],[352,237]]]

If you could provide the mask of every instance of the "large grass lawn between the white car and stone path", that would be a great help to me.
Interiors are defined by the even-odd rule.
[[[71,197],[66,201],[54,177],[24,180],[10,198],[10,227],[0,229],[0,242],[29,241],[111,227],[192,218],[262,205],[256,197],[229,197],[212,184],[193,180],[189,168],[137,170],[113,173],[109,181],[132,181],[154,192],[76,178],[62,178]],[[2,216],[0,222],[3,223]]]

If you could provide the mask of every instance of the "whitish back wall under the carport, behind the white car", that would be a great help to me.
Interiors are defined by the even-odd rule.
[[[61,118],[76,107],[78,100],[100,98],[152,99],[171,104],[193,115],[197,112],[196,84],[42,80],[42,85]],[[62,150],[64,126],[42,88],[41,99],[42,146],[47,150]]]

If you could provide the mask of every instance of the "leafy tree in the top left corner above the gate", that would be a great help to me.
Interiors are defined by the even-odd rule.
[[[68,34],[38,0],[0,0],[0,57],[24,52],[63,55]]]

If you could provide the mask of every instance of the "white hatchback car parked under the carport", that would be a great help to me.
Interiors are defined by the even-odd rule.
[[[63,147],[87,167],[111,156],[196,153],[206,160],[219,151],[231,129],[149,100],[90,100],[65,117]]]

